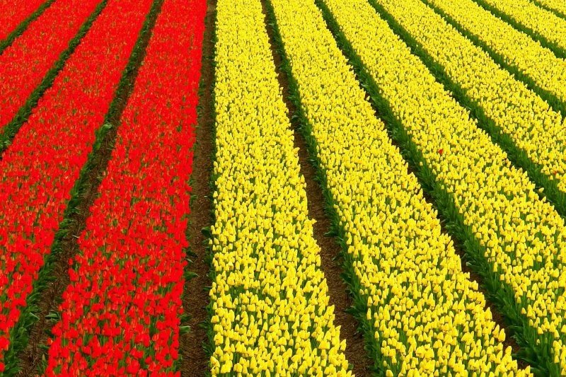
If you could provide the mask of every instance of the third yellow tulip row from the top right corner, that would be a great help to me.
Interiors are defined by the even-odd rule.
[[[473,0],[424,0],[514,66],[539,88],[566,103],[566,61]]]

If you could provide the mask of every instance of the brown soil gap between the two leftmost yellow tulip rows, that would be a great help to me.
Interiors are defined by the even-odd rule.
[[[289,110],[289,120],[294,133],[294,146],[299,149],[299,165],[301,174],[304,175],[306,182],[308,217],[316,220],[316,224],[313,227],[314,238],[320,247],[320,269],[323,271],[328,284],[330,305],[333,305],[335,308],[334,323],[340,326],[340,340],[346,340],[345,356],[347,361],[353,366],[353,373],[356,376],[369,376],[373,363],[364,348],[364,337],[357,330],[357,320],[347,313],[347,310],[352,306],[352,298],[348,294],[346,283],[340,276],[342,267],[335,259],[340,255],[340,245],[333,236],[328,236],[331,230],[331,223],[325,214],[323,191],[316,180],[315,168],[309,161],[310,156],[306,141],[299,130],[301,125],[292,117],[297,112],[297,109],[292,101],[289,100],[287,75],[279,69],[282,66],[282,57],[279,56],[275,47],[274,30],[269,26],[265,1],[269,0],[261,0],[266,30],[270,37],[271,52],[275,66],[277,66],[277,79],[283,91],[283,100],[287,105],[287,110]]]

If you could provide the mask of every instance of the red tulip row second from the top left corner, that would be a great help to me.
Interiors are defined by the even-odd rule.
[[[55,1],[0,55],[0,132],[101,0]]]

